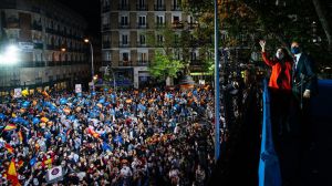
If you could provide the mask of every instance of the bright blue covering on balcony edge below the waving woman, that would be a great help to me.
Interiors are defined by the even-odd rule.
[[[274,151],[270,116],[270,97],[267,81],[263,92],[263,123],[259,159],[259,186],[281,186],[279,158]]]

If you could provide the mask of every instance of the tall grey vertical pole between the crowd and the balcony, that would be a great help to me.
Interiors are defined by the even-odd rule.
[[[220,143],[219,143],[219,122],[220,122],[220,87],[219,87],[219,28],[218,28],[218,0],[215,0],[215,162],[219,159]]]

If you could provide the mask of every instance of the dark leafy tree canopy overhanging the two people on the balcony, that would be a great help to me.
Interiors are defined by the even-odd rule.
[[[270,50],[274,50],[280,45],[289,49],[291,41],[298,40],[311,51],[315,61],[324,64],[332,59],[332,54],[322,56],[319,51],[326,51],[325,44],[331,48],[331,25],[320,4],[322,0],[218,0],[220,31],[225,31],[220,43],[222,48],[255,49],[258,40],[264,39],[268,40]],[[214,35],[212,0],[186,0],[184,7],[199,19],[198,33]],[[210,43],[200,43],[203,44]],[[249,59],[250,52],[245,55]]]

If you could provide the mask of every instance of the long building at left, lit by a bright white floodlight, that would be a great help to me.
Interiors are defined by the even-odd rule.
[[[87,82],[85,28],[82,17],[53,0],[0,0],[2,54],[8,45],[18,48],[14,64],[1,58],[1,94],[23,86],[33,92]]]

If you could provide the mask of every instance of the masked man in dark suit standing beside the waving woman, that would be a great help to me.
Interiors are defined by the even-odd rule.
[[[294,133],[300,140],[299,155],[305,156],[308,151],[314,147],[315,137],[310,103],[312,97],[318,94],[318,78],[312,60],[301,50],[298,42],[292,42],[291,52],[294,55],[292,70],[292,91],[294,95],[292,105],[295,116],[293,122],[295,122],[297,127]]]

